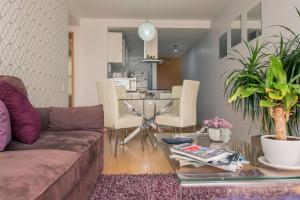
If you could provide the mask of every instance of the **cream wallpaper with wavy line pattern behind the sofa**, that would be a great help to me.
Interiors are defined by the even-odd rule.
[[[35,106],[68,103],[68,1],[0,1],[0,74],[21,78]]]

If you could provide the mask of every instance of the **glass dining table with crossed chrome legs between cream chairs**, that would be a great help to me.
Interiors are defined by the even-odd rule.
[[[156,147],[156,140],[155,137],[149,131],[149,128],[152,127],[156,131],[159,130],[158,125],[155,123],[155,117],[161,115],[162,113],[166,112],[170,109],[173,105],[174,101],[179,101],[179,98],[169,98],[169,97],[157,97],[156,95],[153,96],[145,96],[144,98],[119,98],[129,112],[140,116],[143,118],[143,123],[140,127],[136,128],[133,132],[131,132],[122,142],[121,144],[127,144],[132,138],[134,138],[139,133],[142,133],[143,130],[146,130],[147,135],[149,136],[150,142],[152,146]],[[145,112],[145,107],[147,105],[146,102],[150,101],[153,105],[153,112],[151,114]],[[164,106],[158,108],[157,102],[164,101]],[[142,104],[142,109],[139,109],[136,106],[135,102],[140,102]]]

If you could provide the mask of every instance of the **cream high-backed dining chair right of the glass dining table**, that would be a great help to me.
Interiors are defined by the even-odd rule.
[[[156,116],[155,123],[158,126],[171,128],[194,127],[197,124],[197,96],[200,82],[185,80],[179,102],[178,112],[166,112]],[[180,90],[177,88],[178,91]]]

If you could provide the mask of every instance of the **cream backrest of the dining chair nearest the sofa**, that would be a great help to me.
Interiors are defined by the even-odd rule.
[[[104,126],[106,128],[118,128],[119,100],[114,82],[109,79],[98,81],[97,91],[99,102],[104,107]]]

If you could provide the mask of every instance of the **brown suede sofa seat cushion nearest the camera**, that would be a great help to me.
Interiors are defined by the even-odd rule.
[[[78,153],[61,150],[0,154],[0,199],[64,199],[79,182]]]

